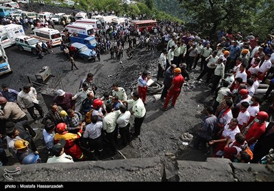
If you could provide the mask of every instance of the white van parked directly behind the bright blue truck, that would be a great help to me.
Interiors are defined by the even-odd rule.
[[[84,35],[94,35],[95,32],[92,25],[86,25],[83,23],[72,23],[66,25],[65,30],[69,31],[69,33],[79,33]]]

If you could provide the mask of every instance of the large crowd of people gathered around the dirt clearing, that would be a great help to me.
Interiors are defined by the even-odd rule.
[[[213,41],[208,37],[202,39],[195,32],[185,31],[183,25],[172,22],[159,22],[151,31],[129,29],[126,25],[115,29],[110,25],[101,30],[96,35],[99,42],[97,48],[103,49],[111,58],[116,51],[119,59],[118,55],[125,44],[129,48],[138,46],[148,50],[154,50],[155,44],[166,46],[159,57],[157,74],[157,80],[164,81],[160,98],[164,102],[160,108],[163,111],[168,109],[171,98],[171,107],[175,107],[182,86],[193,80],[193,70],[201,72],[193,83],[203,82],[202,78],[207,74],[205,85],[214,96],[214,102],[206,108],[195,148],[207,151],[210,146],[214,157],[254,163],[273,148],[273,123],[266,126],[270,113],[260,111],[262,99],[273,102],[273,98],[269,97],[274,89],[273,35],[267,35],[264,42],[260,42],[260,38],[252,33],[245,38],[240,33],[220,33],[219,40]],[[131,38],[130,35],[134,36]],[[67,52],[68,59],[71,59],[70,51]],[[123,55],[122,51],[120,55]],[[89,73],[81,80],[75,95],[58,89],[46,114],[37,100],[34,87],[25,85],[18,92],[2,85],[0,122],[1,127],[5,128],[1,128],[1,144],[4,145],[3,138],[6,136],[9,151],[21,164],[40,162],[34,143],[36,133],[22,111],[27,109],[34,123],[41,119],[40,122],[45,125],[45,144],[53,156],[47,162],[88,160],[86,150],[100,158],[105,144],[110,149],[109,153],[114,155],[119,141],[126,146],[133,138],[140,136],[146,116],[147,82],[150,77],[147,71],[142,72],[136,79],[138,90],[128,100],[125,89],[118,83],[113,84],[111,93],[106,91],[101,96],[97,95],[97,87],[92,83],[93,74]],[[269,83],[262,99],[256,94],[260,83]],[[129,105],[132,106],[131,110],[128,110]],[[40,117],[34,113],[34,108]],[[132,115],[134,126],[129,123]],[[26,124],[19,125],[23,122]],[[252,155],[243,152],[248,148]],[[8,162],[4,149],[1,162],[4,165]]]

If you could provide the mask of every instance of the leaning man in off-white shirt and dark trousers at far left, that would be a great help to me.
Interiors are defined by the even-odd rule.
[[[25,85],[23,87],[23,90],[20,91],[17,95],[17,102],[18,105],[25,109],[27,108],[27,111],[29,112],[29,115],[32,116],[32,119],[34,119],[34,123],[38,123],[37,115],[34,113],[34,108],[36,108],[39,112],[40,117],[43,117],[43,111],[42,107],[40,106],[38,100],[37,100],[37,93],[36,89],[34,87],[30,87],[29,85]]]

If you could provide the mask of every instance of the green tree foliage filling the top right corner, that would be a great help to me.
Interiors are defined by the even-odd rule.
[[[177,0],[190,18],[187,27],[214,37],[220,29],[228,33],[251,31],[269,33],[273,25],[274,1],[271,0]],[[268,23],[268,24],[266,24]]]

